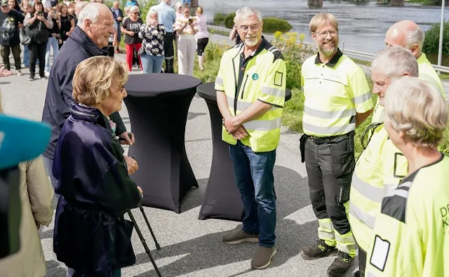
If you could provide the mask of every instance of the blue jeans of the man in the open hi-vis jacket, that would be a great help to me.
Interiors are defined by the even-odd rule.
[[[259,234],[260,246],[272,247],[276,240],[273,176],[276,149],[254,152],[251,147],[237,141],[236,145],[229,145],[229,154],[245,209],[242,229],[248,234]]]

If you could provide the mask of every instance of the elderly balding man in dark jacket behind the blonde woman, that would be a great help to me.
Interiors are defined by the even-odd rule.
[[[95,13],[98,14],[98,17],[90,18]],[[86,5],[79,13],[78,26],[60,49],[59,55],[51,67],[42,121],[49,123],[52,129],[50,144],[43,153],[43,157],[53,187],[57,182],[51,172],[53,156],[62,126],[70,115],[69,107],[73,102],[72,79],[76,66],[87,58],[107,55],[107,51],[101,48],[107,46],[109,36],[114,34],[112,24],[114,24],[114,18],[107,6],[100,3]],[[125,139],[126,144],[132,144],[134,136],[132,139],[128,137],[128,132],[119,113],[112,114],[110,118],[116,123],[115,134]],[[128,156],[125,158],[130,168],[137,167],[137,163],[132,158]]]

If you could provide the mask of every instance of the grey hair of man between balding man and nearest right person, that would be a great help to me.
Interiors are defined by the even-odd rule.
[[[387,47],[377,53],[371,63],[371,71],[373,69],[379,69],[390,78],[400,77],[405,72],[414,77],[419,75],[415,56],[410,50],[401,46]]]

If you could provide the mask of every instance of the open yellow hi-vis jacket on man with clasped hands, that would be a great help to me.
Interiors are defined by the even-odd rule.
[[[263,39],[253,55],[243,60],[243,43],[225,51],[215,79],[215,90],[224,91],[233,116],[256,101],[273,107],[257,119],[243,123],[248,137],[241,140],[255,152],[276,149],[281,136],[281,116],[286,97],[286,62],[281,51]],[[237,141],[222,128],[222,140]]]

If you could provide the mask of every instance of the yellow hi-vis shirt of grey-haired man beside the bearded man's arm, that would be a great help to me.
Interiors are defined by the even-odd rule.
[[[349,194],[349,224],[356,243],[367,251],[385,195],[408,173],[408,163],[388,137],[383,124],[375,128],[356,163]]]

